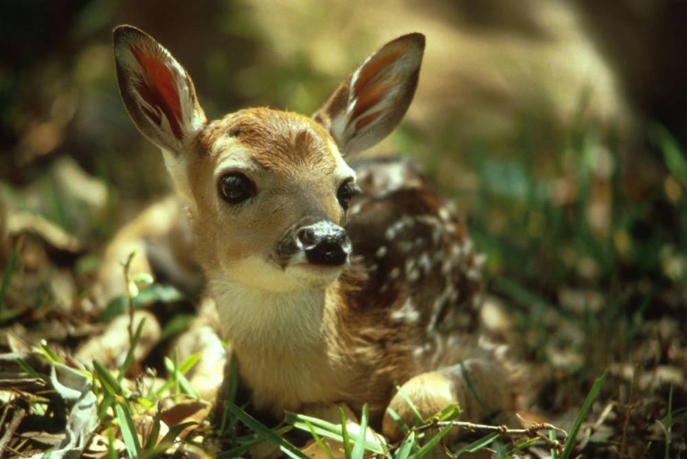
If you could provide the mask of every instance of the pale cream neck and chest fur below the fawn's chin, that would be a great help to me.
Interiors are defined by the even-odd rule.
[[[281,416],[283,410],[340,398],[349,376],[335,288],[336,283],[284,293],[210,282],[240,376],[258,410]]]

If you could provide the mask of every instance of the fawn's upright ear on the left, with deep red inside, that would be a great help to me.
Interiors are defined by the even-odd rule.
[[[117,81],[131,119],[155,145],[181,154],[207,122],[188,72],[136,27],[120,25],[113,35]]]

